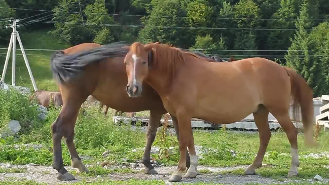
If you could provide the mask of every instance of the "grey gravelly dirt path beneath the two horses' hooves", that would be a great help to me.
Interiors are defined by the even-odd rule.
[[[215,167],[205,167],[199,166],[198,170],[209,170],[212,173],[208,174],[201,174],[198,175],[196,178],[193,179],[185,179],[183,178],[180,183],[170,183],[167,182],[168,178],[170,177],[170,173],[176,168],[175,166],[169,167],[158,167],[156,170],[159,172],[157,175],[146,175],[140,172],[141,168],[136,168],[134,170],[139,171],[138,173],[131,174],[131,173],[113,173],[95,177],[82,177],[82,176],[75,176],[76,180],[73,181],[60,181],[57,180],[57,172],[51,166],[35,166],[33,164],[30,165],[6,165],[0,164],[2,168],[24,168],[26,169],[25,172],[21,173],[0,173],[0,181],[4,180],[35,180],[37,182],[47,183],[49,185],[55,184],[70,184],[74,182],[79,182],[81,180],[85,181],[103,181],[103,180],[128,180],[128,179],[143,179],[143,180],[163,180],[166,184],[185,184],[185,183],[193,183],[193,182],[216,182],[216,183],[223,183],[223,184],[247,184],[247,183],[261,183],[261,184],[286,184],[289,182],[301,182],[301,180],[292,180],[285,178],[284,181],[278,181],[276,179],[270,177],[263,177],[260,175],[254,176],[246,176],[246,175],[234,175],[234,174],[220,174],[220,172],[227,171],[227,170],[234,170],[239,168],[245,168],[246,166],[237,166],[237,167],[226,167],[226,168],[215,168]],[[65,167],[68,171],[74,170],[72,167]],[[119,168],[119,167],[118,167]],[[302,181],[315,182],[313,179],[305,179]],[[324,179],[323,182],[329,182],[329,179]]]

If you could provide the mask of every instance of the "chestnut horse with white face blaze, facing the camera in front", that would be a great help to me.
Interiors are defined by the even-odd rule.
[[[291,144],[291,168],[288,177],[298,175],[297,129],[289,115],[301,105],[305,144],[313,140],[313,94],[307,82],[294,70],[265,58],[247,58],[235,62],[209,60],[161,43],[134,42],[124,59],[128,77],[127,93],[138,98],[147,82],[160,95],[165,109],[178,121],[180,160],[169,181],[194,178],[198,157],[194,149],[191,119],[229,124],[253,114],[260,137],[257,156],[245,174],[253,175],[262,166],[271,137],[268,114],[271,112]],[[132,100],[131,99],[131,100]],[[295,116],[295,115],[294,115]],[[190,168],[186,169],[188,147]]]

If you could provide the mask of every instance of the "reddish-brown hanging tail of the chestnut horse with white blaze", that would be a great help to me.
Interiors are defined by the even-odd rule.
[[[293,119],[299,120],[296,116],[296,109],[299,111],[299,106],[302,112],[302,123],[304,127],[304,139],[307,147],[317,147],[318,143],[313,140],[313,122],[314,107],[313,107],[313,91],[308,83],[295,72],[293,69],[285,67],[291,81],[291,95],[293,98]]]

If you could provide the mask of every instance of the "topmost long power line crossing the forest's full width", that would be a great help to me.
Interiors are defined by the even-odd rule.
[[[14,9],[14,10],[28,10],[28,11],[48,11],[48,10],[37,10],[37,9],[23,9],[23,8],[6,8],[0,7],[5,9]],[[55,12],[51,10],[52,12]],[[77,13],[80,12],[71,12],[71,11],[61,11],[63,13]],[[100,15],[112,15],[112,16],[136,16],[136,17],[148,17],[150,15],[133,15],[133,14],[113,14],[113,13],[91,13],[91,14],[100,14]],[[161,18],[190,18],[190,17],[181,17],[181,16],[155,16]],[[297,20],[297,19],[280,19],[280,18],[232,18],[232,17],[204,17],[204,19],[226,19],[226,20]],[[329,19],[306,19],[306,20],[329,20]]]

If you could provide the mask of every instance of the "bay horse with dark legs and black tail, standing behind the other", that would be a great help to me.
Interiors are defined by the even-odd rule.
[[[55,51],[50,58],[50,66],[56,84],[63,97],[63,108],[51,125],[53,138],[53,168],[60,180],[74,180],[75,177],[63,166],[61,140],[64,137],[68,147],[72,167],[78,172],[89,172],[83,165],[73,143],[74,125],[79,109],[89,95],[121,112],[150,111],[146,132],[146,146],[142,163],[144,173],[157,174],[150,162],[151,146],[163,114],[167,113],[159,94],[147,83],[139,98],[127,95],[126,67],[123,63],[128,47],[122,43],[99,45],[82,43],[64,50]],[[214,60],[210,60],[215,62]],[[173,119],[177,139],[177,120]],[[186,148],[186,166],[190,166]]]

